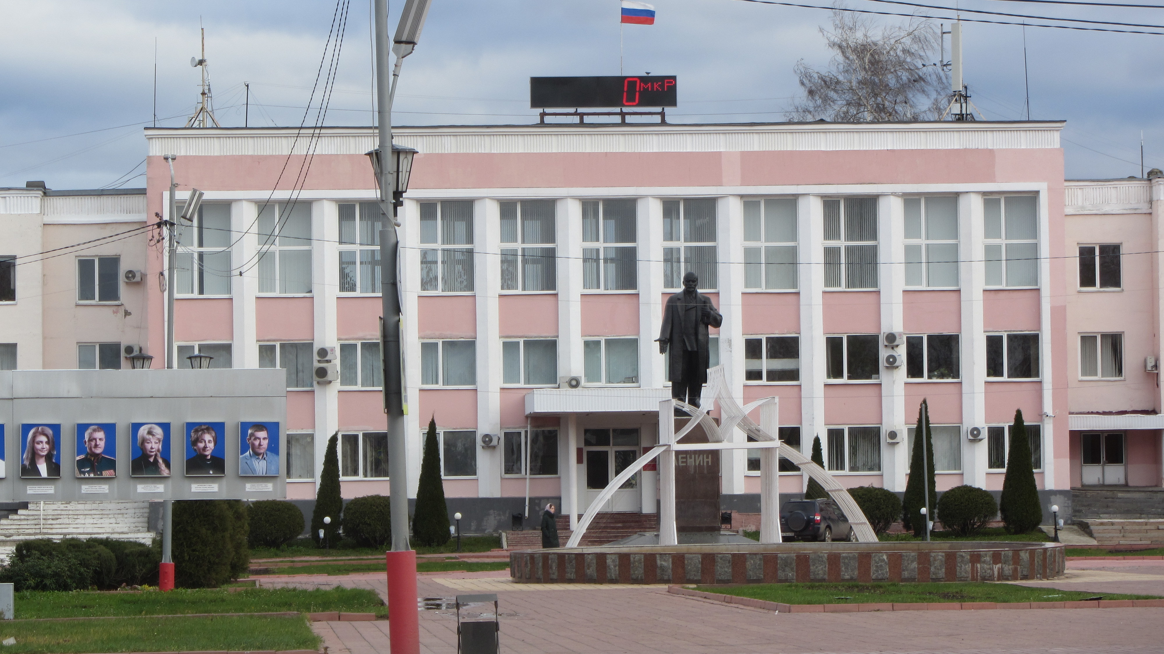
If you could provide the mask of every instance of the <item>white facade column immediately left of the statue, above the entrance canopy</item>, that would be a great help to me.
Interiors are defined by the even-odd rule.
[[[659,354],[662,328],[662,200],[639,198],[637,206],[639,276],[639,385],[661,389],[667,384],[663,356]]]

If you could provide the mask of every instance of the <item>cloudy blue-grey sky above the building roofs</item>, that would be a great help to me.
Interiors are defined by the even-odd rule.
[[[745,0],[653,0],[654,26],[625,27],[625,71],[679,76],[672,122],[780,121],[800,91],[799,59],[828,66],[818,33],[829,12]],[[794,0],[803,5],[824,1]],[[1135,0],[1133,0],[1135,1]],[[1140,175],[1164,168],[1157,115],[1164,69],[1164,9],[1080,7],[1014,0],[916,0],[923,9],[849,0],[854,9],[1022,22],[965,13],[1159,24],[1161,35],[965,23],[966,81],[987,120],[1063,119],[1069,178]],[[370,0],[348,5],[328,125],[369,125]],[[402,0],[391,2],[396,12]],[[140,186],[142,128],[182,126],[198,100],[199,23],[217,116],[251,126],[296,126],[304,118],[336,0],[0,0],[0,186],[44,180],[51,189]],[[531,76],[617,74],[618,0],[434,0],[417,52],[406,59],[397,125],[537,121]],[[874,16],[880,22],[907,19]],[[1025,19],[1028,23],[1076,24]],[[941,22],[941,21],[935,21]],[[936,59],[936,57],[935,57]],[[1025,77],[1025,79],[1024,79]],[[319,106],[317,93],[313,107]],[[313,122],[314,114],[308,119]]]

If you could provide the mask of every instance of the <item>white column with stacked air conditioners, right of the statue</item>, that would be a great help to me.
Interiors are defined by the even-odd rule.
[[[879,277],[881,297],[881,333],[904,330],[902,289],[906,286],[904,215],[906,205],[901,196],[878,198]],[[883,342],[883,341],[882,341]],[[882,356],[894,353],[904,357],[906,346],[882,347]],[[881,367],[881,483],[894,491],[906,490],[906,471],[909,468],[908,446],[901,445],[906,435],[906,368]],[[894,443],[885,439],[885,432],[896,429],[900,434]]]

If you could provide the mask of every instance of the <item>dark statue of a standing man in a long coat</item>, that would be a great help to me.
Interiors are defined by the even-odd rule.
[[[708,381],[708,327],[719,327],[724,320],[711,298],[696,290],[698,283],[694,272],[683,275],[683,290],[667,298],[659,333],[659,354],[668,354],[670,347],[670,394],[691,406],[700,406]]]

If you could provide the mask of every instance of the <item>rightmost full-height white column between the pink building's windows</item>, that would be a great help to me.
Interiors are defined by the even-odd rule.
[[[982,324],[982,194],[958,196],[958,285],[961,293],[961,475],[963,483],[986,488],[989,464],[986,445],[986,334]],[[966,440],[966,431],[980,427],[982,440]]]

